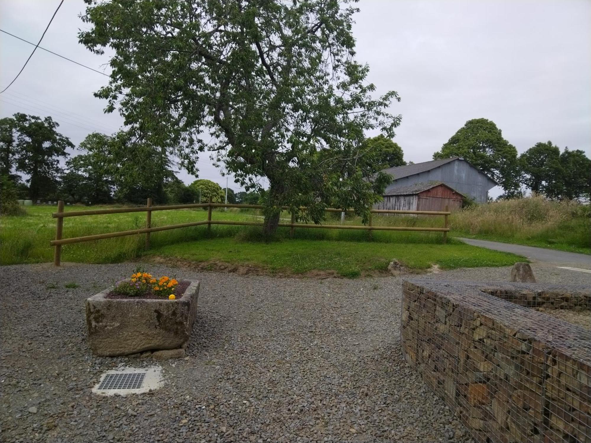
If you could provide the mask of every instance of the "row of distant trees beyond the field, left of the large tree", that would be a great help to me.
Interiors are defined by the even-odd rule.
[[[225,189],[218,184],[196,180],[185,185],[176,177],[170,152],[132,142],[124,132],[90,133],[77,148],[80,154],[70,157],[66,149],[74,145],[58,126],[51,117],[23,113],[0,119],[2,201],[145,204],[152,197],[154,203],[187,204],[199,198],[206,202],[209,196],[216,203],[225,201]],[[256,192],[235,194],[228,189],[228,203],[258,203],[259,198]]]

